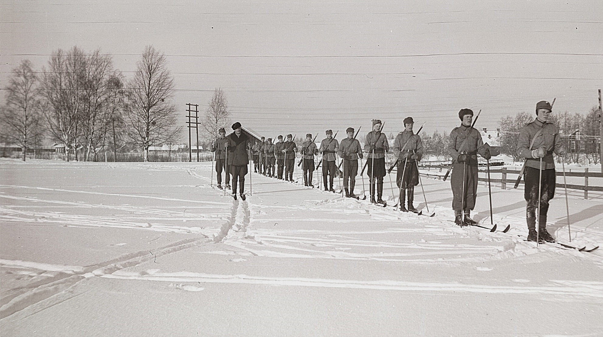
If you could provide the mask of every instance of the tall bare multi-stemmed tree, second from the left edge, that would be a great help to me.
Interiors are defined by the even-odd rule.
[[[46,99],[46,121],[51,136],[65,144],[65,159],[74,149],[77,160],[78,137],[81,134],[81,110],[84,108],[86,55],[77,47],[68,52],[58,49],[42,68],[42,93]]]

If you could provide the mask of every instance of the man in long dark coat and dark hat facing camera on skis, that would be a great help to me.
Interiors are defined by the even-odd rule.
[[[251,149],[249,137],[241,132],[241,123],[236,122],[232,125],[235,132],[226,137],[224,147],[228,151],[228,163],[230,173],[232,174],[232,195],[236,200],[236,184],[239,183],[239,193],[241,199],[245,200],[245,174],[247,174],[247,165],[249,164],[248,150]]]

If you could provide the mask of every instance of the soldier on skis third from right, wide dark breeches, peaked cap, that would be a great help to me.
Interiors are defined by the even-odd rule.
[[[417,212],[412,205],[414,200],[414,187],[418,185],[417,162],[423,156],[423,143],[418,134],[412,132],[414,121],[412,117],[404,119],[405,130],[400,132],[394,140],[394,155],[397,158],[396,184],[400,188],[400,210],[403,212]],[[404,206],[404,199],[408,191],[408,210]]]

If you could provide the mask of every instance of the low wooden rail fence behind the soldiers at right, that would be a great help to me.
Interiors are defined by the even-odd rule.
[[[430,165],[430,164],[419,163],[419,167],[420,168],[429,168],[429,169],[431,169],[431,168],[448,169],[449,165]],[[478,172],[487,173],[488,171],[486,169],[479,169]],[[500,179],[490,179],[490,181],[493,183],[500,183],[500,187],[502,189],[507,189],[507,184],[511,184],[511,186],[513,186],[515,184],[515,181],[517,180],[517,177],[515,177],[514,179],[509,179],[507,177],[507,175],[509,175],[509,174],[519,175],[519,172],[520,171],[516,170],[516,169],[493,168],[493,169],[490,169],[490,174],[500,173],[500,174],[502,174],[502,177]],[[558,177],[563,177],[563,172],[557,171],[555,173],[557,174]],[[444,176],[444,172],[442,172],[441,174],[430,174],[430,173],[421,173],[421,174],[425,175],[426,177],[429,177],[429,176],[437,177],[438,179],[441,179]],[[589,186],[589,177],[590,178],[603,178],[603,173],[601,173],[601,172],[589,172],[589,169],[585,168],[584,172],[566,172],[565,175],[566,175],[566,177],[584,177],[584,185],[567,184],[567,188],[569,188],[569,189],[576,189],[576,190],[584,191],[584,199],[589,198],[589,191],[603,192],[603,186]],[[488,178],[478,177],[478,181],[488,181]],[[520,181],[520,183],[523,184],[523,179]],[[555,186],[557,186],[558,188],[563,188],[566,185],[563,183],[557,183]]]

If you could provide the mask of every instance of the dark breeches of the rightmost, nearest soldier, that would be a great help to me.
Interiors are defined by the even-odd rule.
[[[536,218],[536,210],[538,209],[538,180],[540,178],[540,172],[538,171],[537,168],[526,167],[523,175],[523,181],[525,181],[523,198],[528,202],[526,206],[526,218]],[[541,219],[546,217],[549,210],[549,200],[555,196],[556,180],[555,169],[542,170],[540,212],[538,212]]]

